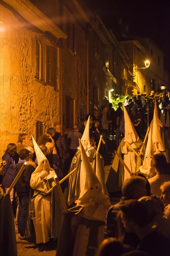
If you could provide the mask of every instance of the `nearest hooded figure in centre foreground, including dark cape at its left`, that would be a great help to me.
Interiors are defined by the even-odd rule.
[[[107,210],[110,207],[108,195],[102,192],[102,185],[97,178],[88,156],[80,142],[81,168],[80,168],[80,195],[76,206],[68,210],[69,224],[63,225],[57,244],[57,256],[91,256],[104,239],[104,226]],[[67,229],[67,231],[65,230]],[[72,233],[70,236],[68,233]],[[66,236],[64,235],[67,232]],[[63,243],[63,237],[65,240]],[[66,244],[72,248],[66,250]]]

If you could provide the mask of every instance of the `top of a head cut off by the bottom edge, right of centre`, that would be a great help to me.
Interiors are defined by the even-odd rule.
[[[109,237],[100,244],[97,250],[96,256],[110,256],[116,255],[120,256],[125,252],[123,244],[113,237]]]

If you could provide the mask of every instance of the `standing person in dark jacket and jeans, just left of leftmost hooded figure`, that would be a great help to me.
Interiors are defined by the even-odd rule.
[[[19,163],[16,165],[16,174],[19,172],[24,162],[30,160],[30,151],[26,148],[21,149],[19,153]],[[28,209],[28,199],[30,193],[31,174],[35,168],[32,165],[25,165],[18,182],[16,183],[16,192],[19,197],[19,212],[18,212],[18,233],[19,239],[24,239],[24,230]]]

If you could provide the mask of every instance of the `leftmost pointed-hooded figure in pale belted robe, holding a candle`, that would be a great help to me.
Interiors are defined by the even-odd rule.
[[[35,190],[32,197],[33,209],[31,211],[31,218],[34,223],[36,243],[42,243],[43,246],[50,238],[58,236],[56,221],[60,222],[61,219],[57,213],[57,211],[60,212],[60,207],[55,195],[57,177],[54,169],[50,168],[47,158],[33,137],[32,140],[38,160],[38,167],[32,173],[30,180],[30,186]],[[56,205],[57,211],[55,211]]]

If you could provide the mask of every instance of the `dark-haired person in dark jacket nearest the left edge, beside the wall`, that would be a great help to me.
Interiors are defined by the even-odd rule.
[[[15,160],[13,156],[17,152],[17,145],[14,143],[9,143],[7,145],[5,154],[2,156],[2,161],[6,161],[6,165],[3,168],[2,175],[2,185],[5,188],[5,191],[8,192],[13,180],[15,178]],[[13,189],[10,192],[10,200],[13,202]]]

